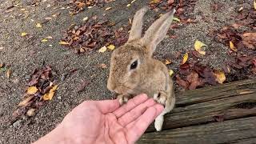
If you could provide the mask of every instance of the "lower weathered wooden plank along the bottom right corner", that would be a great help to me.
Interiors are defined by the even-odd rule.
[[[138,143],[256,143],[256,117],[188,126],[142,135]]]

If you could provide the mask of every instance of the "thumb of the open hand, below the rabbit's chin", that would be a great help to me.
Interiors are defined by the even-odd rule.
[[[91,105],[96,106],[96,108],[100,110],[102,114],[111,113],[114,110],[117,110],[120,106],[118,99],[105,101],[85,101],[81,104],[82,107],[88,107]]]

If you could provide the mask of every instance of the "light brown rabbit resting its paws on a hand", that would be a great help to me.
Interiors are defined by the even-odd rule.
[[[142,21],[147,10],[144,6],[136,12],[128,41],[113,51],[107,88],[120,94],[121,105],[142,93],[164,105],[162,114],[154,121],[155,129],[161,131],[164,114],[174,109],[174,84],[166,65],[152,55],[158,43],[166,37],[175,10],[158,18],[142,37]]]

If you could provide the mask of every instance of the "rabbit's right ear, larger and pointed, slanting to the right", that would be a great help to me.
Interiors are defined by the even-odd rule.
[[[162,15],[158,18],[148,30],[146,30],[144,37],[142,38],[142,44],[146,46],[150,54],[153,54],[158,43],[166,37],[167,31],[169,30],[170,24],[173,21],[174,13],[176,10]]]

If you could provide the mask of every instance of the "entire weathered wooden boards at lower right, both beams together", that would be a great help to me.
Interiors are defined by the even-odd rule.
[[[243,140],[238,142],[256,143],[256,78],[186,90],[176,97],[177,105],[166,114],[163,131],[154,133],[151,125],[140,142],[186,143],[194,140],[195,143],[226,143],[235,142],[232,137],[241,137]],[[226,132],[220,133],[222,130]],[[247,133],[249,139],[243,136]],[[216,138],[222,140],[214,141]]]

